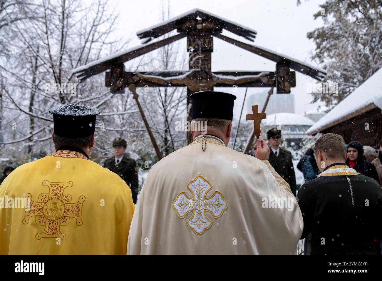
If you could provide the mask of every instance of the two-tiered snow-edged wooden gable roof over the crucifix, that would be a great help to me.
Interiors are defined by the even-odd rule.
[[[160,37],[175,29],[176,31],[178,31],[178,34],[159,40],[159,41],[152,41],[153,39]],[[192,35],[195,35],[195,34],[192,34],[193,32],[199,32],[199,33],[204,33],[206,37],[214,36],[219,39],[222,39],[226,42],[236,45],[237,47],[248,50],[249,52],[260,55],[261,57],[265,57],[276,63],[284,63],[288,65],[289,68],[296,70],[300,73],[303,73],[304,75],[311,76],[312,78],[316,80],[322,81],[324,79],[324,76],[326,75],[326,71],[318,67],[314,67],[312,65],[301,62],[299,60],[296,60],[294,58],[288,57],[283,54],[278,54],[277,52],[273,52],[272,50],[266,49],[264,47],[260,47],[258,45],[244,43],[244,42],[232,39],[230,37],[224,36],[221,34],[223,29],[233,32],[249,41],[254,41],[254,38],[256,37],[256,34],[257,34],[257,32],[251,28],[241,26],[238,23],[229,21],[228,19],[224,19],[220,16],[217,16],[207,11],[203,11],[199,8],[196,8],[186,13],[183,13],[182,15],[179,15],[175,18],[169,19],[168,21],[165,21],[164,23],[138,31],[137,35],[140,39],[142,39],[142,42],[143,42],[142,45],[138,45],[128,50],[118,52],[116,54],[102,58],[100,60],[96,60],[92,63],[88,63],[87,65],[74,69],[72,72],[81,81],[84,81],[93,75],[96,75],[108,69],[111,69],[115,65],[127,62],[133,58],[144,55],[148,52],[151,52],[152,50],[163,47],[181,38],[184,38],[184,37],[190,38],[192,37]],[[198,38],[196,38],[196,40],[198,40]],[[212,40],[209,40],[209,41],[210,42],[201,42],[202,44],[204,44],[204,46],[201,45],[200,47],[202,49],[212,49]],[[193,47],[193,46],[188,44],[188,47]],[[194,48],[194,49],[198,50],[198,48]],[[167,80],[171,79],[170,78],[171,76],[185,75],[186,72],[187,71],[183,71],[183,72],[175,71],[171,73],[167,71],[166,79]],[[256,74],[252,73],[252,75],[258,75],[261,72],[269,72],[269,71],[257,71]],[[160,73],[159,72],[150,73],[150,75],[154,75],[154,76],[157,76],[157,74],[160,74]],[[217,74],[221,75],[221,73],[217,73]],[[233,73],[230,73],[228,76],[231,76],[231,74]],[[246,71],[246,73],[243,73],[243,75],[248,76],[248,75],[251,75],[251,73],[249,71]],[[233,74],[233,76],[242,76],[242,75],[240,75],[239,73],[238,75]],[[173,86],[175,85],[173,84]],[[186,86],[186,85],[182,84],[181,86]],[[219,85],[214,85],[214,86],[219,86]],[[269,87],[269,85],[267,85],[267,87]]]

